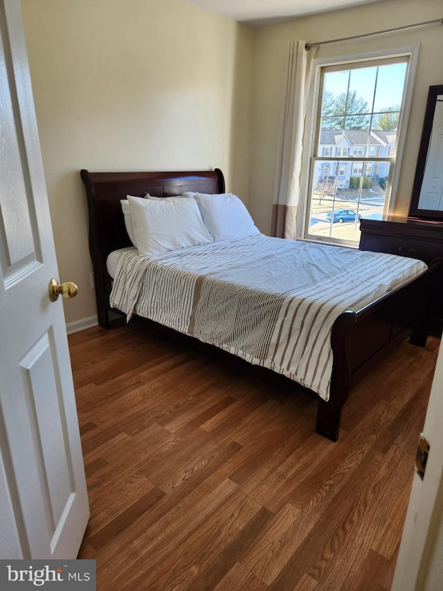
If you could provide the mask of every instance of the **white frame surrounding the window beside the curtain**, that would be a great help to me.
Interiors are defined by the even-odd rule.
[[[300,201],[299,211],[302,215],[298,215],[297,219],[297,236],[301,240],[309,240],[311,242],[329,242],[330,244],[341,244],[348,245],[357,248],[354,242],[346,240],[331,240],[325,238],[313,238],[307,236],[307,212],[310,209],[310,187],[309,187],[309,168],[311,154],[314,153],[314,142],[316,136],[316,123],[318,121],[318,101],[320,92],[320,76],[321,70],[328,66],[337,66],[343,64],[361,62],[370,62],[372,60],[383,60],[383,58],[401,58],[408,57],[409,64],[406,70],[406,79],[404,85],[403,95],[403,110],[399,119],[399,125],[397,128],[397,138],[395,147],[395,166],[390,166],[390,173],[388,179],[388,190],[386,191],[386,202],[383,213],[393,213],[395,208],[395,198],[397,197],[397,188],[399,184],[399,175],[401,169],[401,159],[404,152],[404,144],[406,141],[406,130],[408,125],[408,119],[410,114],[410,105],[413,96],[413,85],[415,80],[415,71],[417,69],[419,45],[408,45],[398,48],[389,48],[380,51],[370,51],[367,53],[355,53],[351,55],[336,55],[329,56],[327,58],[316,58],[313,60],[311,69],[311,80],[309,82],[309,96],[308,96],[308,109],[305,120],[305,140],[303,143],[303,155],[302,155],[302,172],[300,177]]]

